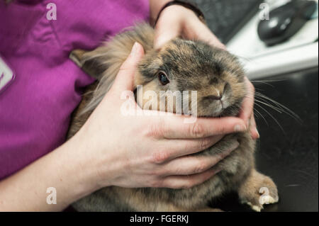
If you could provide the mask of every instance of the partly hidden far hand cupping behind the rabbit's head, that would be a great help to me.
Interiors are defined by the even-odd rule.
[[[196,16],[190,9],[183,6],[169,6],[162,11],[155,27],[155,47],[159,49],[173,38],[181,36],[189,40],[202,40],[215,47],[226,49],[223,43],[216,38],[211,30]],[[247,128],[250,128],[250,133],[254,140],[259,138],[256,122],[254,120],[254,86],[245,78],[247,84],[247,96],[242,104],[240,118],[245,120]]]

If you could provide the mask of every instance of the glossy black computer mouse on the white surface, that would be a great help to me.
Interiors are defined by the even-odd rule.
[[[295,35],[317,10],[316,1],[292,0],[269,13],[258,25],[258,35],[266,45],[276,45]]]

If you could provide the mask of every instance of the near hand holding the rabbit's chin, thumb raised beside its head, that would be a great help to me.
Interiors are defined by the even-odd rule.
[[[94,183],[100,188],[189,188],[203,183],[218,172],[213,166],[239,144],[234,142],[233,148],[216,156],[189,155],[211,147],[225,134],[247,130],[245,122],[240,118],[198,118],[196,123],[186,124],[184,115],[121,114],[127,101],[121,94],[133,90],[135,69],[143,55],[142,46],[136,43],[111,90],[70,142],[77,144],[77,152],[84,156],[84,171],[96,171]]]

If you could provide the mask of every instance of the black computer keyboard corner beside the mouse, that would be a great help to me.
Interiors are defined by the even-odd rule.
[[[258,11],[263,0],[192,0],[203,11],[209,28],[227,43]]]

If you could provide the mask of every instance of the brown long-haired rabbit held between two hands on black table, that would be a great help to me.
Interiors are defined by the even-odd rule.
[[[236,57],[205,43],[180,38],[170,41],[162,50],[155,50],[154,36],[149,25],[141,24],[96,50],[74,50],[71,53],[70,58],[98,80],[89,86],[89,92],[74,112],[68,137],[82,127],[108,92],[135,42],[145,49],[145,57],[135,74],[135,86],[142,85],[144,93],[197,91],[198,117],[235,116],[239,113],[245,97],[245,74]],[[162,98],[158,105],[161,101]],[[186,101],[189,101],[189,106],[195,104],[190,98]],[[145,100],[139,104],[144,106]],[[167,106],[166,101],[164,104]],[[253,210],[262,210],[265,203],[276,203],[279,200],[276,185],[254,168],[255,142],[249,132],[227,135],[200,154],[208,156],[223,152],[234,142],[239,142],[240,146],[215,166],[220,172],[201,185],[177,190],[113,186],[96,191],[73,206],[79,211],[214,211],[208,208],[208,203],[228,191],[236,191],[240,201]]]

